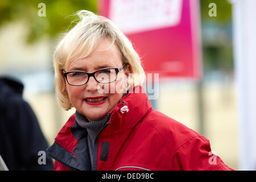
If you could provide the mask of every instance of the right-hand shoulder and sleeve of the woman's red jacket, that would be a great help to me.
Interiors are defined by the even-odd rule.
[[[209,140],[175,119],[152,110],[143,121],[166,143],[172,170],[232,170],[218,156],[211,162]]]

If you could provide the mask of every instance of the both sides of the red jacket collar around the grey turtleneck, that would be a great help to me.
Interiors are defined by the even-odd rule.
[[[110,119],[107,127],[102,131],[104,131],[105,135],[123,133],[141,121],[150,110],[152,110],[152,106],[144,88],[140,85],[135,86],[125,97],[121,98],[119,104],[109,111]],[[76,133],[82,133],[81,136],[87,135],[87,131],[84,128],[76,125],[75,114],[73,114],[57,134],[55,140],[72,153],[73,148],[76,147],[81,138],[77,137]]]

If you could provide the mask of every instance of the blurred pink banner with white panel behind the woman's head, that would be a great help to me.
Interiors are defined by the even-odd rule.
[[[146,73],[201,77],[197,0],[99,0],[98,7],[131,40]]]

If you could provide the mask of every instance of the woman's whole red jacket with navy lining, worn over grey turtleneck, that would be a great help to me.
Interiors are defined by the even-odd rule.
[[[121,110],[123,106],[128,110]],[[141,86],[135,86],[108,115],[97,137],[94,164],[86,129],[77,125],[75,114],[69,118],[48,148],[55,170],[232,170],[212,154],[208,139],[153,110]]]

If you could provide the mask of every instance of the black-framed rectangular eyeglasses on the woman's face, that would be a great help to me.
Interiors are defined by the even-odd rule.
[[[73,86],[85,85],[91,76],[101,84],[109,84],[117,80],[117,73],[121,71],[125,65],[126,64],[119,68],[98,69],[92,73],[83,71],[64,72],[64,77],[66,78],[68,84]]]

